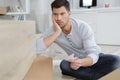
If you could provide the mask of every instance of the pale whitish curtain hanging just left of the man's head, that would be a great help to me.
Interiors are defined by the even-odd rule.
[[[51,0],[30,0],[31,13],[27,19],[36,20],[37,33],[45,31],[48,25],[48,13],[51,9]]]

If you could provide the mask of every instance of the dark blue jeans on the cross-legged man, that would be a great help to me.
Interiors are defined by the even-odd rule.
[[[119,67],[119,56],[103,53],[99,54],[98,62],[90,67],[80,67],[78,70],[73,70],[66,60],[63,60],[60,64],[62,74],[82,80],[98,80]]]

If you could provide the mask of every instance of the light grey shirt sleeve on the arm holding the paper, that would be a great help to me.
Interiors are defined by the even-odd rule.
[[[88,56],[90,56],[93,59],[93,64],[95,64],[99,59],[99,53],[101,51],[100,47],[97,46],[95,39],[94,39],[94,33],[89,25],[84,25],[83,29],[83,45],[86,53]]]

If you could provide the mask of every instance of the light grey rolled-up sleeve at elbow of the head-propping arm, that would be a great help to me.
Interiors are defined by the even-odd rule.
[[[44,38],[39,38],[36,40],[36,53],[40,54],[46,50],[46,46],[44,43]]]

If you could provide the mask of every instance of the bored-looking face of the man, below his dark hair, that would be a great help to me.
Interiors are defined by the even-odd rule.
[[[61,28],[64,28],[69,22],[70,11],[66,10],[64,6],[60,8],[53,8],[52,15],[56,23]]]

